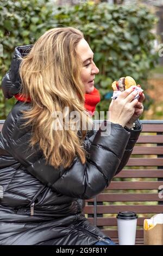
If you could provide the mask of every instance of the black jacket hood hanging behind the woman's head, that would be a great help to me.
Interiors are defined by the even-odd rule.
[[[10,99],[21,91],[21,79],[19,76],[19,67],[21,58],[26,56],[33,45],[17,46],[14,51],[14,55],[11,61],[11,66],[7,74],[2,80],[2,91],[6,99]]]

